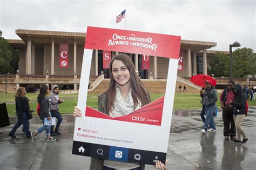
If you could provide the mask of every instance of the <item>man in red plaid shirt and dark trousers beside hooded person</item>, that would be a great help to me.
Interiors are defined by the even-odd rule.
[[[237,138],[235,137],[235,124],[234,124],[234,112],[232,108],[230,108],[231,103],[234,101],[234,92],[233,92],[233,85],[234,81],[230,80],[228,81],[228,86],[227,89],[225,89],[221,94],[220,94],[220,105],[221,108],[223,109],[223,123],[224,123],[224,130],[223,130],[223,135],[225,140],[236,140]]]

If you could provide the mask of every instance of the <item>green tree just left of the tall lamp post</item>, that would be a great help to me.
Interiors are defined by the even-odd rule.
[[[208,74],[210,76],[214,74],[214,77],[228,77],[228,61],[229,58],[227,55],[221,52],[216,52],[209,63],[210,67],[208,67]]]

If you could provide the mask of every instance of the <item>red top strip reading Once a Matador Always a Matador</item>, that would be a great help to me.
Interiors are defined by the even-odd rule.
[[[180,36],[88,26],[85,49],[137,53],[178,59]]]

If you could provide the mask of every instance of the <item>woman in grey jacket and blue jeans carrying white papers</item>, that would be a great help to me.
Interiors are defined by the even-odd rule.
[[[40,87],[40,93],[38,94],[37,101],[40,104],[39,109],[39,117],[42,120],[43,126],[38,128],[37,131],[31,133],[31,138],[33,141],[36,141],[36,136],[45,131],[46,132],[46,141],[55,141],[56,139],[51,137],[51,126],[50,125],[44,125],[44,118],[46,118],[48,121],[51,120],[51,114],[50,114],[50,101],[46,95],[49,94],[48,86],[41,86]]]

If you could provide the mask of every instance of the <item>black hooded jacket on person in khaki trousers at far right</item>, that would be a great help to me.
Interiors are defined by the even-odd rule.
[[[235,84],[233,89],[237,90],[237,94],[235,94],[233,101],[233,112],[235,115],[245,114],[246,97],[242,92],[242,86],[240,84]]]

